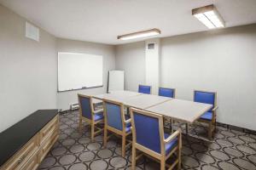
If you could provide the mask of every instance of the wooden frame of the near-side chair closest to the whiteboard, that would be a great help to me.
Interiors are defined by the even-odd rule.
[[[103,131],[103,128],[100,128],[100,127],[96,126],[97,124],[103,122],[103,119],[99,120],[99,121],[96,121],[96,122],[94,121],[95,114],[99,113],[99,112],[102,112],[103,109],[97,110],[97,111],[94,110],[94,106],[92,104],[92,97],[91,96],[84,95],[84,94],[78,94],[78,98],[80,98],[80,97],[90,99],[91,120],[83,116],[83,114],[82,114],[82,105],[81,105],[80,99],[79,99],[79,133],[82,133],[82,122],[83,122],[83,120],[84,120],[84,122],[90,123],[90,127],[91,127],[90,128],[90,138],[93,141],[95,136]],[[95,128],[97,129],[96,131],[95,131]]]

